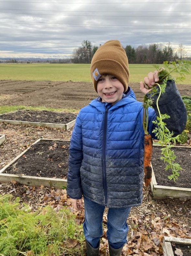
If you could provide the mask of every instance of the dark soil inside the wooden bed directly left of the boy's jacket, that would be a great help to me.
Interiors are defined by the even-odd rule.
[[[6,169],[6,173],[66,179],[70,141],[39,141]]]

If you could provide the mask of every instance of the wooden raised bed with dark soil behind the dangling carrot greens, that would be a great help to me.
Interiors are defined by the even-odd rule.
[[[161,147],[153,146],[151,181],[153,198],[191,198],[191,147],[174,146],[172,150],[176,155],[176,162],[183,168],[177,182],[168,179],[171,170],[166,171],[165,164],[160,159]]]

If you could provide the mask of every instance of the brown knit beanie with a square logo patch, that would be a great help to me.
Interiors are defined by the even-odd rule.
[[[104,74],[116,76],[123,84],[124,92],[127,91],[129,83],[128,58],[118,40],[107,41],[97,49],[92,58],[90,72],[96,92],[97,81]]]

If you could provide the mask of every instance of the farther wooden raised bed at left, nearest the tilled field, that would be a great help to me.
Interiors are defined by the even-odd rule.
[[[53,111],[19,110],[0,115],[1,123],[43,126],[68,130],[75,124],[77,114]]]

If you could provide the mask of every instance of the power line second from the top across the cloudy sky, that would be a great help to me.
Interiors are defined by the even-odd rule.
[[[79,15],[79,14],[54,14],[54,13],[49,13],[49,14],[47,14],[47,13],[23,13],[23,12],[1,12],[0,11],[0,13],[12,13],[12,14],[30,14],[30,15],[56,15],[56,16],[85,16],[85,17],[103,17],[103,15]],[[104,15],[104,17],[145,17],[145,18],[147,18],[147,17],[191,17],[191,15],[184,15],[184,16],[181,16],[181,15],[179,15],[179,16],[177,16],[177,15],[147,15],[147,16],[145,16],[145,15],[137,15],[137,16],[135,16],[135,15],[115,15],[115,16],[113,16],[113,15]]]

